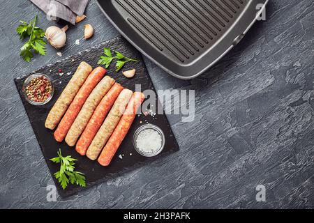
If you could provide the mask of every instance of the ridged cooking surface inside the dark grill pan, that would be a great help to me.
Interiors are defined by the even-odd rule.
[[[204,47],[216,43],[246,2],[115,0],[114,5],[125,10],[134,29],[169,58],[189,63],[202,54]]]

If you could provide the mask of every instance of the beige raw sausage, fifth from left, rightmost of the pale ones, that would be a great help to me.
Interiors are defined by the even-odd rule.
[[[93,141],[91,141],[91,145],[87,150],[87,157],[89,157],[89,159],[97,159],[99,153],[103,149],[103,146],[105,146],[107,139],[109,139],[110,135],[114,131],[114,128],[116,128],[119,123],[121,116],[124,114],[126,106],[128,105],[130,98],[132,98],[132,95],[133,92],[128,89],[121,91],[103,125],[101,125]]]

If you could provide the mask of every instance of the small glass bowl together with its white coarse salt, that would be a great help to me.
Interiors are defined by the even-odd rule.
[[[134,133],[133,145],[140,155],[153,157],[163,151],[165,134],[156,125],[142,125]]]

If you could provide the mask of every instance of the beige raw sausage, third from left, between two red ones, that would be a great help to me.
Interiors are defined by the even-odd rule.
[[[68,130],[68,134],[66,134],[66,144],[69,146],[75,145],[78,137],[80,137],[80,134],[82,134],[84,128],[89,122],[89,118],[91,118],[93,115],[100,100],[103,99],[114,82],[114,79],[111,77],[104,77],[96,86],[96,88],[91,92],[91,95],[89,95],[89,98],[87,98],[80,113],[75,118],[75,121],[72,124],[70,130]]]

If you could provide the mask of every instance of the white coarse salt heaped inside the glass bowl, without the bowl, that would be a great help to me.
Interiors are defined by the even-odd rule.
[[[162,139],[154,129],[142,130],[136,139],[137,148],[144,153],[155,153],[161,147]]]

